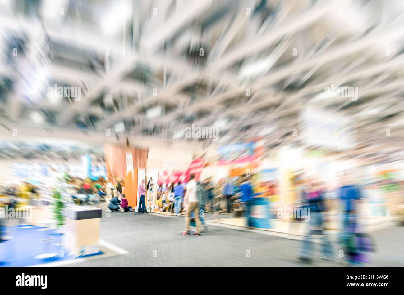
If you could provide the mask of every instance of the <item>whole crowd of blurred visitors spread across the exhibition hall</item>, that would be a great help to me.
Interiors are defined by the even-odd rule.
[[[360,204],[363,199],[370,198],[369,186],[385,187],[389,190],[397,190],[402,183],[391,183],[380,180],[372,185],[360,186],[356,183],[352,173],[345,171],[344,175],[337,177],[338,182],[334,187],[327,186],[320,177],[295,175],[290,179],[292,190],[295,194],[294,202],[289,204],[294,208],[308,208],[310,222],[307,223],[308,231],[305,236],[299,258],[303,262],[311,262],[314,253],[314,239],[319,237],[322,245],[322,259],[332,260],[335,247],[332,247],[332,239],[327,234],[330,212],[339,212],[339,235],[338,242],[345,255],[352,264],[361,264],[367,261],[366,252],[374,249],[371,237],[360,224]],[[115,212],[128,212],[133,208],[128,206],[128,200],[124,193],[124,181],[116,177],[114,183],[100,178],[96,181],[91,179],[79,179],[65,177],[63,197],[66,202],[76,204],[98,204],[106,202],[109,210]],[[150,183],[145,186],[145,180],[141,180],[138,187],[139,204],[137,211],[147,213],[146,191]],[[38,195],[38,187],[32,183],[23,183],[19,187],[7,187],[3,189],[6,195],[16,196],[20,199]],[[154,209],[160,212],[173,213],[175,216],[185,214],[185,228],[183,235],[200,235],[208,230],[204,220],[204,212],[214,212],[213,215],[239,213],[238,216],[246,218],[246,225],[253,227],[251,211],[255,197],[267,197],[273,213],[276,205],[271,197],[278,195],[278,182],[259,182],[256,177],[243,175],[241,177],[225,177],[214,182],[212,177],[197,180],[190,175],[187,183],[159,184],[156,189]],[[304,212],[304,211],[303,211]],[[307,212],[307,211],[306,211]],[[271,218],[276,218],[271,215]],[[291,225],[304,222],[303,218],[290,220]],[[191,226],[195,229],[191,231]]]

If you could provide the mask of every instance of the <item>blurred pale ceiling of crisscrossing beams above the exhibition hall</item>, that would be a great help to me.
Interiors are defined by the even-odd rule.
[[[400,146],[403,12],[401,1],[0,0],[0,128],[197,141],[176,136],[195,124],[271,150],[301,145],[292,130],[316,107],[352,120],[357,156]],[[358,99],[325,99],[332,84]]]

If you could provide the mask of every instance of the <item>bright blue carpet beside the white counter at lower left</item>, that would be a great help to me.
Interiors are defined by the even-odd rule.
[[[57,242],[63,242],[64,237],[55,233],[54,230],[38,231],[40,229],[38,226],[24,227],[16,225],[13,227],[15,227],[12,229],[15,231],[14,239],[0,243],[0,266],[23,267],[75,258],[75,256],[69,255],[65,245],[53,245]],[[48,238],[54,240],[50,242],[40,241]],[[48,243],[48,245],[44,247],[44,243]],[[44,249],[46,252],[57,253],[57,256],[42,260],[34,258],[39,254],[43,254]],[[102,252],[99,252],[99,254],[102,254]]]

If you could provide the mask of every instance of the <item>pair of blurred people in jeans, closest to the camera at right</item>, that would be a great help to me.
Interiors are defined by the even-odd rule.
[[[314,239],[321,244],[320,259],[332,261],[336,249],[340,257],[347,258],[351,265],[369,262],[368,252],[375,250],[375,243],[362,223],[364,200],[369,197],[367,185],[359,185],[352,171],[345,171],[336,177],[333,187],[327,186],[318,176],[296,177],[293,185],[296,191],[294,208],[307,208],[309,212],[308,231],[301,244],[299,259],[305,263],[313,261]],[[372,194],[376,193],[372,191]],[[388,210],[386,210],[388,211]],[[330,235],[331,216],[339,216],[336,221],[337,240],[332,243]],[[297,218],[295,222],[304,222]],[[338,247],[335,247],[336,244]],[[342,256],[341,256],[342,255]]]

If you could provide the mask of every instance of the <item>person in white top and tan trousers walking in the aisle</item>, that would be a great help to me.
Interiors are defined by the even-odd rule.
[[[196,232],[194,233],[194,235],[198,236],[200,233],[201,221],[199,219],[199,206],[198,206],[196,180],[193,174],[191,174],[191,176],[189,177],[189,181],[186,186],[184,204],[185,204],[185,231],[183,231],[181,234],[189,235],[189,216],[193,211],[196,222]]]

